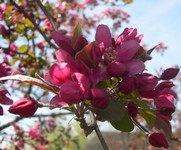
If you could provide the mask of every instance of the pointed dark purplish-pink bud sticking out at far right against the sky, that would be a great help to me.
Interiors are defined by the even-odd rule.
[[[180,69],[178,68],[168,68],[165,71],[163,71],[160,79],[161,80],[170,80],[177,76]]]

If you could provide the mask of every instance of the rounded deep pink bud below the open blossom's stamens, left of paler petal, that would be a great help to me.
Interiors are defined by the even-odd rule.
[[[120,77],[126,73],[126,66],[120,62],[113,62],[108,65],[107,73],[111,77]]]

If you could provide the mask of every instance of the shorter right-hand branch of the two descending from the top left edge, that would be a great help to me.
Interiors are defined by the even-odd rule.
[[[53,17],[50,15],[49,11],[46,10],[46,8],[42,5],[40,0],[36,0],[36,2],[38,4],[38,6],[41,8],[41,10],[44,12],[46,17],[48,18],[48,20],[50,21],[50,23],[53,27],[53,30],[57,31],[56,26],[55,26],[54,21],[53,21]]]

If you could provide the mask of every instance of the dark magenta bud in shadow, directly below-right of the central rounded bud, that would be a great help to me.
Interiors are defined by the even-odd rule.
[[[128,77],[123,79],[119,83],[118,88],[125,95],[130,94],[136,88],[136,78]]]

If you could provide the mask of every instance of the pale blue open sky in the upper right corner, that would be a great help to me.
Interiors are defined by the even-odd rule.
[[[181,66],[181,0],[135,0],[123,9],[131,14],[130,23],[124,27],[135,27],[139,34],[143,33],[143,42],[149,48],[160,41],[168,46],[163,56],[153,54],[148,63],[151,70]]]

